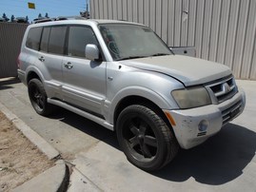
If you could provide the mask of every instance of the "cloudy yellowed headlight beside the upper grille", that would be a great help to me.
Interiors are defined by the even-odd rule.
[[[192,108],[211,104],[207,89],[203,86],[173,90],[171,95],[180,108]]]

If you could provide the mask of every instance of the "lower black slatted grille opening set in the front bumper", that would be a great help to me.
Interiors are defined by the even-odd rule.
[[[242,101],[237,102],[233,106],[230,106],[222,111],[223,125],[226,125],[231,119],[233,119],[241,111]]]

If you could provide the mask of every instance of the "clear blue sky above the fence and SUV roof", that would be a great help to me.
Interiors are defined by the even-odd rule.
[[[48,12],[49,17],[74,16],[79,15],[80,11],[86,10],[86,3],[89,0],[0,0],[0,17],[5,12],[10,18],[29,16],[30,22],[41,13],[45,16]],[[28,2],[35,4],[35,10],[28,7]]]

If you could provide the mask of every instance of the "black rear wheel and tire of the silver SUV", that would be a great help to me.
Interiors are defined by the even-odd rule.
[[[42,84],[38,79],[31,79],[28,86],[30,103],[34,110],[43,116],[48,116],[52,111],[54,106],[47,102],[47,93]]]

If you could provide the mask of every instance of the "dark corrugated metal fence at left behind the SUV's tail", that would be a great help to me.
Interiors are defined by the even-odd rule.
[[[0,78],[17,76],[17,57],[27,24],[0,23]]]

